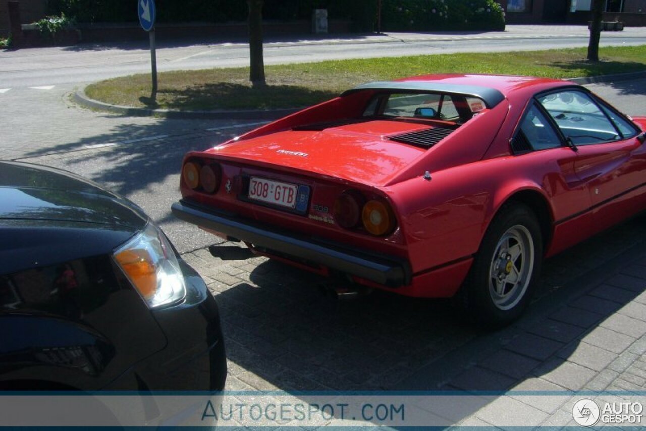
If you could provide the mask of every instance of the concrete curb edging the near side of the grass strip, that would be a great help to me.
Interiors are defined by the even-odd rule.
[[[583,78],[566,79],[576,84],[596,84],[612,81],[627,81],[629,79],[646,78],[644,72],[629,72],[623,74],[586,76]],[[255,110],[172,110],[172,109],[145,109],[128,106],[110,105],[98,100],[90,99],[85,94],[85,87],[76,91],[72,99],[79,105],[92,109],[106,110],[115,114],[139,117],[182,118],[200,120],[278,120],[286,115],[293,114],[300,108],[286,109],[255,109]]]

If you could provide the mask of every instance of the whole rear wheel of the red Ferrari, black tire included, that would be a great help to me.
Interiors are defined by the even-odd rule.
[[[505,204],[488,227],[464,292],[469,315],[492,327],[518,319],[528,305],[543,260],[543,238],[534,212]]]

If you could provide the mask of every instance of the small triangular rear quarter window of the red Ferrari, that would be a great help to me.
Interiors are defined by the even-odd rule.
[[[521,121],[519,130],[512,142],[515,152],[545,150],[561,146],[561,140],[536,105],[532,105]]]

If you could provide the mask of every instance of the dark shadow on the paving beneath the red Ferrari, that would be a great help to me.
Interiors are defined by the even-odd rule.
[[[591,369],[570,383],[559,381],[561,366],[579,366],[580,349],[590,346],[586,335],[608,326],[616,310],[644,291],[643,283],[621,284],[622,277],[630,277],[627,263],[646,257],[643,221],[644,216],[630,220],[547,260],[528,312],[498,331],[466,321],[448,300],[375,291],[353,302],[333,301],[322,295],[317,275],[264,258],[240,262],[236,277],[245,280],[250,266],[248,279],[216,289],[227,338],[228,388],[500,392],[497,396],[511,389],[603,390]],[[450,421],[497,396],[464,397],[453,406]]]

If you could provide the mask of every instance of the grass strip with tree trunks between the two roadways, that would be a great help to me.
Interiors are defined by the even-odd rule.
[[[177,110],[306,107],[368,81],[431,73],[488,73],[578,78],[646,70],[646,45],[605,47],[601,61],[585,59],[585,48],[526,52],[441,54],[322,61],[266,66],[267,86],[252,88],[249,68],[181,70],[158,75],[151,100],[150,74],[89,85],[86,94],[113,105]]]

